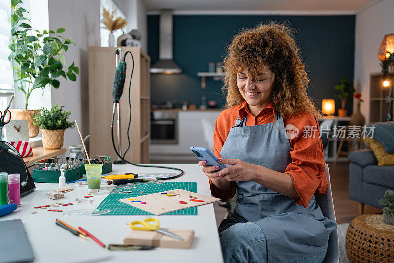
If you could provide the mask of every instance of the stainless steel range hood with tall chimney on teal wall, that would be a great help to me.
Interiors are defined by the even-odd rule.
[[[172,10],[160,11],[159,60],[149,72],[152,74],[180,74],[182,69],[172,59]]]

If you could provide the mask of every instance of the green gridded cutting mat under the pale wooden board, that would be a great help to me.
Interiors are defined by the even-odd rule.
[[[148,184],[140,184],[136,185],[133,188],[132,186],[118,186],[112,190],[112,192],[105,197],[105,199],[100,203],[97,207],[99,211],[104,209],[111,210],[109,213],[105,215],[153,215],[145,210],[136,208],[132,205],[128,205],[122,202],[119,202],[120,199],[129,198],[129,197],[137,197],[143,194],[140,191],[144,191],[145,195],[153,194],[157,192],[164,192],[174,189],[184,189],[190,192],[197,193],[197,184],[195,182],[165,182],[165,183],[148,183]],[[131,191],[131,193],[119,193],[116,191]],[[197,215],[197,206],[189,207],[186,209],[166,213],[164,215]]]

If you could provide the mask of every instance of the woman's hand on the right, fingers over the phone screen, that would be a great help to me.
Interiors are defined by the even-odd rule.
[[[256,165],[245,163],[239,159],[220,159],[221,164],[230,164],[231,166],[221,169],[218,176],[225,178],[227,181],[251,181],[256,178]]]

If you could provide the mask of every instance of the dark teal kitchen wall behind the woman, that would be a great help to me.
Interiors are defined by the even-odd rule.
[[[321,108],[322,99],[334,99],[334,85],[345,76],[353,80],[355,16],[256,16],[256,15],[174,15],[173,57],[182,68],[180,75],[151,75],[151,103],[160,105],[168,100],[201,104],[201,97],[225,104],[221,94],[222,81],[207,78],[206,89],[201,89],[197,72],[208,72],[209,62],[222,61],[226,46],[244,28],[259,23],[276,21],[296,30],[310,80],[308,95]],[[159,59],[159,15],[148,15],[148,54],[151,63]],[[335,109],[340,100],[335,99]],[[352,101],[346,104],[348,114]]]

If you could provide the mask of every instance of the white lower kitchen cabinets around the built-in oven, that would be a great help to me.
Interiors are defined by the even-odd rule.
[[[211,124],[213,137],[213,127],[215,121],[219,116],[220,110],[188,110],[178,111],[177,113],[177,144],[151,144],[150,153],[151,161],[171,159],[177,160],[197,160],[196,157],[190,152],[190,146],[201,146],[212,148],[212,145],[207,145],[204,138],[204,131],[202,127],[202,119],[206,123]]]

